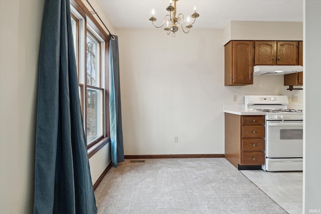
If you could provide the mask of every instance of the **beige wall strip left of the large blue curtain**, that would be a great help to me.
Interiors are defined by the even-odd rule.
[[[0,213],[31,213],[45,1],[0,1]]]

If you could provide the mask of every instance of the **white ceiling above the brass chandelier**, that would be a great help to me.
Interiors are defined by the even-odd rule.
[[[115,28],[154,28],[150,21],[155,10],[155,25],[162,25],[169,12],[169,0],[98,0]],[[223,29],[230,21],[303,21],[302,0],[180,0],[177,14],[192,15],[196,6],[200,17],[193,28]],[[98,14],[99,15],[99,14]]]

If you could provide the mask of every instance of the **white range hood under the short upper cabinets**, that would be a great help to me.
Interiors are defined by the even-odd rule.
[[[253,75],[285,75],[303,71],[302,66],[296,65],[256,65]]]

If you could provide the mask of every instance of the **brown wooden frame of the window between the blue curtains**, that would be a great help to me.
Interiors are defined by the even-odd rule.
[[[86,6],[81,2],[81,0],[70,0],[71,7],[71,16],[73,19],[77,20],[77,72],[78,72],[78,80],[79,80],[79,88],[83,92],[81,99],[81,107],[82,107],[82,115],[84,120],[84,130],[86,133],[86,141],[87,141],[87,111],[84,105],[87,103],[87,88],[92,88],[94,90],[101,90],[101,97],[102,97],[102,103],[101,103],[101,110],[102,110],[102,135],[96,138],[93,141],[90,141],[87,143],[87,152],[88,157],[90,158],[94,153],[96,153],[99,149],[101,149],[105,144],[110,142],[110,130],[109,130],[109,36],[103,30],[102,26],[97,22],[97,20],[93,17],[92,13],[86,8]],[[75,15],[74,13],[77,13]],[[81,16],[81,21],[84,21],[84,35],[81,36],[81,22],[79,20],[79,15]],[[88,26],[90,26],[88,28]],[[88,30],[89,29],[89,30]],[[92,32],[94,31],[94,33]],[[86,37],[87,33],[90,32],[90,35],[93,36],[96,40],[100,41],[96,36],[98,35],[102,41],[104,41],[102,44],[100,41],[100,54],[99,54],[99,61],[104,61],[104,66],[101,67],[101,63],[99,66],[99,86],[88,86],[87,80],[86,80],[86,58],[84,57],[84,62],[82,62],[83,65],[80,65],[81,63],[81,54],[82,51],[80,48],[80,43],[84,43],[85,45],[85,55],[86,55]],[[81,40],[81,37],[84,37],[83,40]],[[104,45],[104,48],[102,49],[102,45]],[[102,51],[104,50],[104,52]],[[83,68],[81,68],[83,66]],[[80,67],[80,68],[79,68]],[[80,70],[83,69],[85,72],[84,76],[81,76],[79,73]],[[102,75],[104,73],[104,75]],[[85,96],[83,96],[85,95]],[[97,103],[96,103],[97,104]]]

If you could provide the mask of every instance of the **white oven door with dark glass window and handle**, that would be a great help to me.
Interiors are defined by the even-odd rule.
[[[303,157],[303,121],[266,121],[266,157]]]

